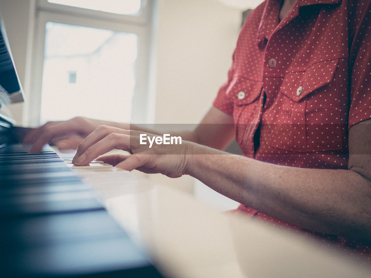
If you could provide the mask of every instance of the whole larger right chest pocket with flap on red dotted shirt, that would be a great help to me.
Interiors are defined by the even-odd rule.
[[[315,63],[283,80],[272,146],[297,152],[342,149],[336,67],[339,60]]]

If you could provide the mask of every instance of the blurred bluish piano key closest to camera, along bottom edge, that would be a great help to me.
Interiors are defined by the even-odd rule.
[[[125,235],[10,250],[1,263],[5,277],[161,277]]]

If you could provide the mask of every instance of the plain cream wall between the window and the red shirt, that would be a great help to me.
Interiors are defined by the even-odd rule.
[[[226,81],[242,11],[215,0],[160,0],[155,123],[198,123]]]

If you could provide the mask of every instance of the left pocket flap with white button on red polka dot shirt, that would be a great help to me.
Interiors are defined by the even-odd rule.
[[[236,77],[227,89],[227,95],[233,99],[235,105],[245,105],[256,100],[263,88],[263,82],[252,81],[242,77]]]

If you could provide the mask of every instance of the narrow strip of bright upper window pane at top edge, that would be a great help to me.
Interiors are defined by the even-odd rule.
[[[117,14],[138,14],[141,9],[141,0],[48,0],[48,2]]]

